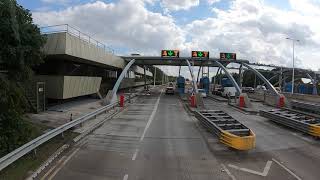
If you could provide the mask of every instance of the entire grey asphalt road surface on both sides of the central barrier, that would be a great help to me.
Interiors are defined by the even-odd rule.
[[[256,134],[256,148],[221,144],[187,112],[178,96],[155,89],[96,129],[63,156],[43,179],[300,180],[320,179],[319,141],[205,99]]]

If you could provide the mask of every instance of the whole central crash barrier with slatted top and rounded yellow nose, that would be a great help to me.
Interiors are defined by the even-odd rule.
[[[195,111],[200,123],[214,133],[221,143],[237,150],[250,150],[255,147],[255,134],[252,130],[221,110]]]

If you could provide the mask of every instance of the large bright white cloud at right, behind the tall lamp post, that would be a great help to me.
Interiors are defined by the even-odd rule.
[[[185,28],[191,35],[191,46],[210,50],[236,52],[238,57],[253,62],[292,65],[292,45],[286,37],[299,39],[296,46],[297,65],[320,67],[316,61],[320,31],[315,16],[308,18],[297,11],[282,11],[260,0],[235,0],[229,10],[213,9],[216,17],[196,20]],[[305,19],[308,19],[306,22]],[[318,24],[318,23],[316,23]],[[313,54],[310,57],[307,54]]]

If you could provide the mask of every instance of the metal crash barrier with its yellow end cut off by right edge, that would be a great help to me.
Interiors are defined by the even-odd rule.
[[[320,118],[287,109],[261,110],[260,115],[275,123],[291,127],[314,137],[320,137]]]

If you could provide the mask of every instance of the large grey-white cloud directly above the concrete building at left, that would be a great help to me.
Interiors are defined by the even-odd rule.
[[[172,17],[153,13],[145,1],[97,1],[61,11],[34,12],[35,22],[44,26],[70,24],[97,39],[129,51],[158,55],[163,48],[183,49],[184,31]]]

